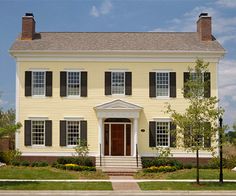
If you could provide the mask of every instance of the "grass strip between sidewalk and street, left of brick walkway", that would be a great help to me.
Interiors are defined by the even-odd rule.
[[[0,190],[112,190],[110,182],[1,182]]]

